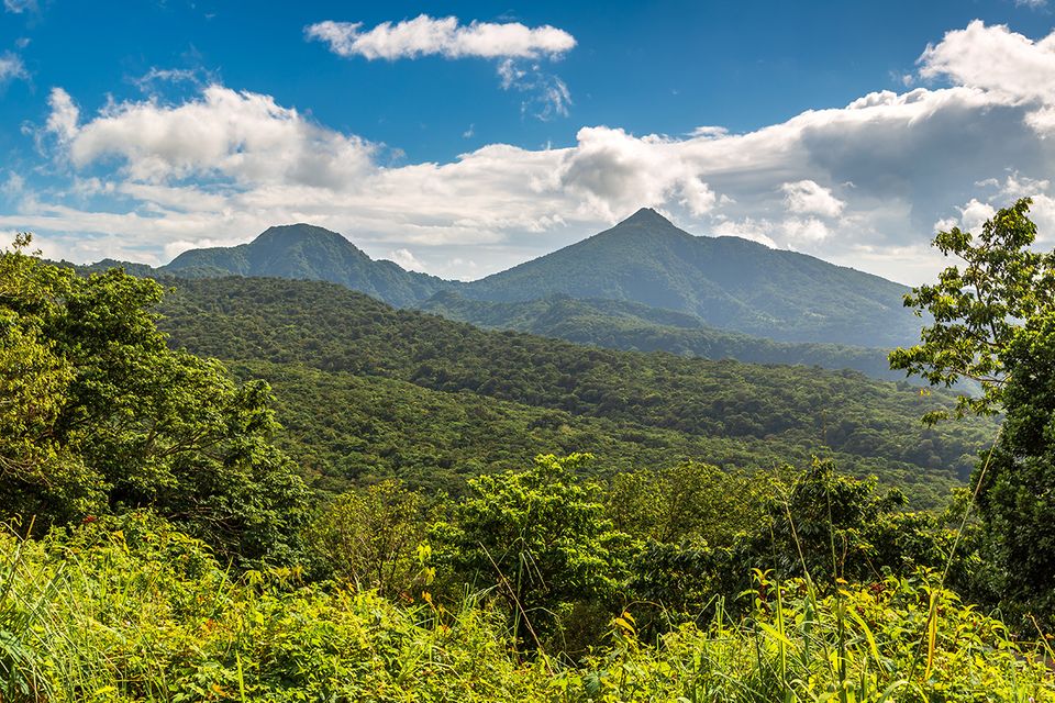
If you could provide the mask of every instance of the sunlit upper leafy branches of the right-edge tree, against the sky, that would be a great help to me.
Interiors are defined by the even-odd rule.
[[[1055,253],[1031,246],[1036,226],[1026,216],[1032,201],[1019,200],[997,212],[975,237],[953,227],[940,232],[934,246],[963,260],[939,275],[933,286],[920,286],[904,304],[933,316],[921,343],[890,354],[890,367],[918,375],[934,386],[974,380],[978,397],[962,395],[957,416],[992,414],[1001,406],[1009,369],[1004,353],[1023,322],[1055,305]],[[929,413],[933,423],[946,411]]]

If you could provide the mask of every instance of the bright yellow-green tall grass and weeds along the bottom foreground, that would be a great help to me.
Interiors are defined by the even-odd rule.
[[[232,578],[144,515],[0,537],[3,701],[1043,701],[1042,645],[920,572],[822,595],[757,572],[723,609],[642,641],[633,613],[570,665],[522,660],[467,595],[393,604],[295,571]],[[940,617],[929,616],[931,610]],[[919,661],[920,641],[929,666]]]

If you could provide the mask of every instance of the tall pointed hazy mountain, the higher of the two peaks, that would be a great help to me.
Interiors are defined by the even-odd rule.
[[[468,283],[467,298],[563,293],[643,303],[781,342],[892,347],[919,339],[909,289],[812,256],[738,237],[693,236],[642,209],[611,230]]]

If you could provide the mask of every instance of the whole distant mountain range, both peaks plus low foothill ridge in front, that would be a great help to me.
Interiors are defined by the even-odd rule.
[[[109,268],[103,261],[90,268]],[[473,282],[375,260],[308,224],[192,249],[130,272],[340,283],[399,308],[622,349],[853,368],[891,378],[882,349],[919,338],[908,288],[738,237],[695,236],[642,209],[577,244]]]

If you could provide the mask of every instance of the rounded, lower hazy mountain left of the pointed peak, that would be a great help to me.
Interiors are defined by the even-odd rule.
[[[248,244],[191,249],[157,269],[182,278],[268,276],[322,280],[407,306],[457,283],[374,260],[345,237],[310,224],[269,227]]]

